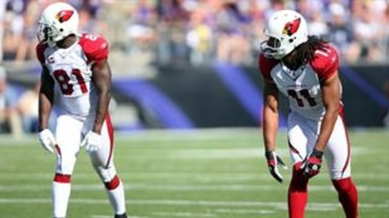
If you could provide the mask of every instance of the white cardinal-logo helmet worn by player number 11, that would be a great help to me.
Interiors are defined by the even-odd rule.
[[[269,38],[261,43],[263,54],[282,59],[298,45],[308,41],[307,22],[294,10],[279,10],[268,20],[265,35]]]

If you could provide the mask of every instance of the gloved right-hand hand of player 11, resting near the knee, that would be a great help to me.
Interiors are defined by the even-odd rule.
[[[311,178],[320,172],[323,152],[314,149],[311,154],[305,157],[301,170],[303,175]]]

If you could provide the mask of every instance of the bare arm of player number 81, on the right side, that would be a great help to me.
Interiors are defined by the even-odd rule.
[[[100,134],[111,98],[111,70],[107,59],[98,61],[93,65],[92,81],[98,90],[96,118],[92,131]]]

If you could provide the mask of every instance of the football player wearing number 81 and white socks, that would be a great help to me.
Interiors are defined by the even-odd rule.
[[[108,113],[108,43],[99,35],[79,34],[78,22],[77,11],[59,2],[44,10],[38,23],[37,57],[42,64],[39,141],[56,154],[53,216],[66,216],[70,178],[84,146],[105,185],[115,218],[125,218],[124,190],[113,163],[114,138]],[[55,135],[47,128],[53,106],[60,110]]]

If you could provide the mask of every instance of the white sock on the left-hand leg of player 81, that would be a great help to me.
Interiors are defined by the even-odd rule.
[[[70,183],[53,182],[53,216],[66,217],[70,197]]]

